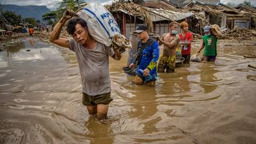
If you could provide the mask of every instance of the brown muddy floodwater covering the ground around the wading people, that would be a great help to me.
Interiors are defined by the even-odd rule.
[[[256,59],[243,58],[255,45],[219,42],[215,64],[159,74],[156,87],[131,83],[127,53],[110,60],[113,102],[100,123],[82,105],[74,54],[30,39],[1,47],[1,144],[256,143]]]

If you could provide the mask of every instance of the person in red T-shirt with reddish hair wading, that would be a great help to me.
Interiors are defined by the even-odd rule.
[[[182,33],[179,34],[180,44],[182,45],[182,58],[184,58],[184,63],[189,64],[193,34],[188,31],[188,22],[181,22],[180,28],[182,29]]]

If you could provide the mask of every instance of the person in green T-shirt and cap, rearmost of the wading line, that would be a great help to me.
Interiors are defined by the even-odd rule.
[[[211,29],[216,31],[216,35],[211,33]],[[203,56],[204,61],[215,62],[217,56],[217,42],[218,38],[221,37],[221,32],[214,27],[211,28],[211,26],[205,26],[204,33],[203,42],[197,54],[200,54],[200,51],[205,48]]]

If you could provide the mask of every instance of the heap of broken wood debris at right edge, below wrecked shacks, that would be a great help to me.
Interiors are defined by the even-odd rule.
[[[256,31],[255,30],[248,30],[245,28],[239,29],[235,26],[234,29],[231,31],[224,31],[223,37],[225,39],[233,39],[233,40],[250,40],[256,39]]]

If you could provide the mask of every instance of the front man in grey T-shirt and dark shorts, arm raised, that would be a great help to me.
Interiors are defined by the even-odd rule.
[[[71,19],[74,12],[66,11],[54,27],[50,41],[76,52],[83,85],[83,104],[90,115],[97,114],[99,120],[107,118],[110,97],[109,57],[120,60],[121,54],[97,42],[90,36],[86,21]],[[67,25],[72,38],[60,38],[61,28]]]

